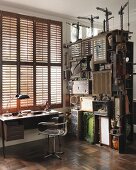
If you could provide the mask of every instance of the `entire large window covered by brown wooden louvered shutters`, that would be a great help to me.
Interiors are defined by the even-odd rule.
[[[1,11],[1,112],[62,107],[62,23]],[[29,99],[17,101],[15,95]]]

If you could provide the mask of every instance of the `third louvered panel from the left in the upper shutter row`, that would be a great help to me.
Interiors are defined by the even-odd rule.
[[[48,25],[36,22],[36,62],[48,62]]]

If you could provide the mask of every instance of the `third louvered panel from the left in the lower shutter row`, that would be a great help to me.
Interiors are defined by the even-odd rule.
[[[36,67],[36,105],[45,104],[48,100],[48,67]]]

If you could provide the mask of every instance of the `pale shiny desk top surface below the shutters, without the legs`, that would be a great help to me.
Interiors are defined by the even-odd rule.
[[[33,117],[42,117],[42,116],[49,116],[49,115],[56,115],[61,114],[61,112],[58,112],[56,110],[51,111],[32,111],[31,113],[28,113],[26,115],[20,115],[20,116],[13,116],[12,114],[10,116],[0,116],[1,121],[8,121],[8,120],[19,120],[19,119],[27,119],[27,118],[33,118]]]

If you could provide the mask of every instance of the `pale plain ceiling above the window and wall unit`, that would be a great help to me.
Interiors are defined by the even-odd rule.
[[[105,19],[105,13],[96,7],[108,8],[119,20],[118,12],[128,0],[0,0],[0,5],[31,10],[39,13],[55,15],[62,18],[90,17],[99,15],[99,22]],[[136,13],[136,0],[129,0],[130,20]],[[125,16],[126,15],[126,16]],[[128,6],[124,9],[124,18],[128,16]]]

